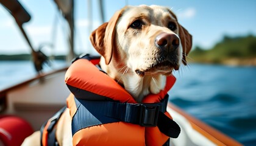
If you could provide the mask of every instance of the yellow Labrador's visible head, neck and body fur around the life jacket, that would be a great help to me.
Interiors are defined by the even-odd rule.
[[[187,64],[192,46],[192,36],[176,15],[158,5],[124,7],[94,30],[90,40],[102,56],[102,70],[139,103],[165,88],[166,77],[182,63]],[[60,118],[64,122],[57,125],[57,141],[59,145],[72,145],[68,109]],[[35,145],[39,139],[40,133],[35,132],[23,145]]]

